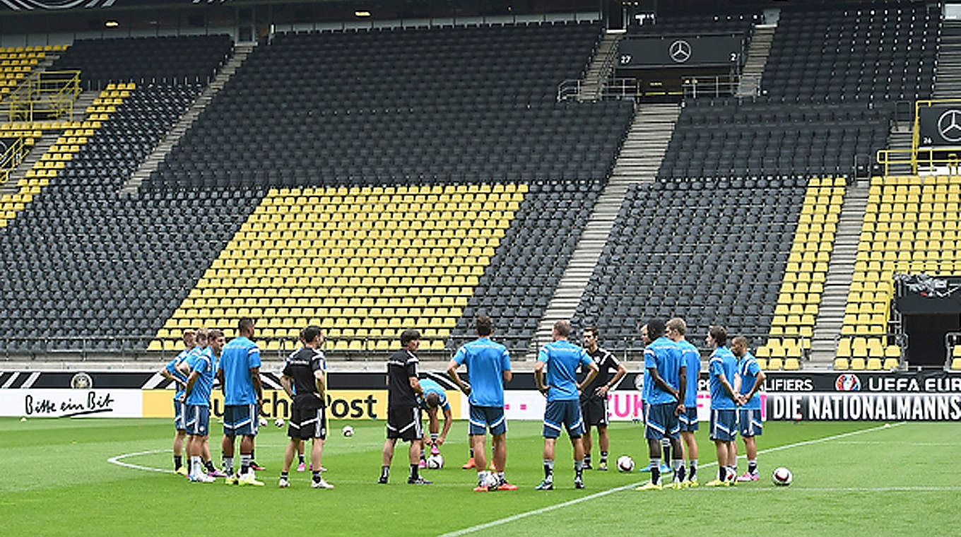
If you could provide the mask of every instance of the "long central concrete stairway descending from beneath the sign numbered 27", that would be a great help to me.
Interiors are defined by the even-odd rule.
[[[634,112],[634,121],[610,180],[594,205],[594,211],[580,234],[578,246],[541,318],[535,338],[538,345],[551,341],[551,330],[556,321],[570,319],[574,315],[584,286],[594,273],[607,235],[624,203],[628,187],[633,183],[650,183],[654,180],[679,114],[678,105],[641,105]]]

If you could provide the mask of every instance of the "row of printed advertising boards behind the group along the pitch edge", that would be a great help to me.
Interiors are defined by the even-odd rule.
[[[84,377],[80,377],[84,376]],[[454,419],[467,416],[467,398],[441,373],[428,373],[447,388]],[[72,374],[0,372],[0,416],[172,418],[169,381],[152,373]],[[611,421],[640,421],[643,403],[630,373],[608,396]],[[382,373],[331,373],[328,415],[333,419],[383,419],[386,390]],[[289,416],[289,399],[275,374],[263,374],[266,419]],[[71,388],[71,385],[81,386]],[[95,387],[94,387],[95,386]],[[780,421],[961,421],[961,375],[915,373],[769,373],[762,397],[762,419]],[[214,392],[212,414],[223,414]],[[505,391],[508,420],[540,420],[545,401],[533,388],[533,375],[518,373]],[[699,418],[709,419],[710,394],[702,374]]]

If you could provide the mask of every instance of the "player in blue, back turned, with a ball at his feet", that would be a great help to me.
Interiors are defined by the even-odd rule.
[[[471,445],[474,447],[478,471],[478,486],[474,491],[517,490],[517,485],[508,483],[504,476],[507,463],[504,383],[513,378],[510,354],[504,345],[491,341],[494,321],[490,317],[480,315],[475,326],[478,338],[457,349],[454,358],[447,364],[447,374],[460,391],[468,396],[470,403]],[[457,367],[462,364],[467,364],[469,382],[464,382],[457,375]],[[497,473],[494,478],[491,478],[486,470],[487,455],[483,447],[488,428],[494,443],[494,471]]]

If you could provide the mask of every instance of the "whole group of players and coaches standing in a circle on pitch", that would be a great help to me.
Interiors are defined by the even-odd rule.
[[[490,317],[478,317],[478,338],[460,347],[447,367],[450,378],[468,397],[471,459],[464,468],[477,469],[478,485],[474,488],[477,492],[517,489],[505,478],[504,385],[512,378],[510,356],[504,345],[491,340],[493,329]],[[212,482],[223,476],[228,484],[263,485],[254,475],[254,470],[262,469],[254,461],[262,388],[259,349],[251,341],[253,320],[240,319],[238,333],[239,337],[225,345],[221,330],[187,331],[184,335],[187,349],[161,370],[161,375],[178,384],[174,398],[175,470],[193,482]],[[642,472],[650,472],[651,481],[637,490],[663,489],[661,476],[668,472],[674,474],[672,482],[666,485],[670,488],[698,486],[698,446],[694,431],[699,428],[697,393],[701,354],[685,340],[685,333],[686,325],[679,318],[667,323],[652,319],[641,329],[646,348],[643,386],[639,387],[651,456],[650,466]],[[593,468],[591,427],[598,429],[599,436],[601,456],[597,470],[608,468],[608,392],[617,387],[627,369],[613,354],[598,347],[597,329],[584,329],[584,347],[571,343],[570,334],[569,322],[555,323],[554,341],[540,350],[534,366],[536,387],[547,399],[542,430],[544,479],[537,490],[554,488],[554,445],[562,428],[566,429],[574,450],[575,488],[584,488],[583,471]],[[435,454],[447,438],[452,424],[450,404],[443,387],[431,379],[419,378],[416,352],[420,333],[404,330],[400,339],[401,349],[387,360],[387,438],[378,482],[388,482],[396,442],[403,440],[410,443],[407,483],[431,484],[420,476],[419,470],[425,467],[426,446]],[[309,439],[312,440],[311,486],[333,488],[321,475],[321,455],[327,436],[326,361],[319,349],[323,333],[319,327],[309,326],[301,331],[301,342],[303,347],[287,358],[281,378],[293,405],[287,428],[290,443],[284,452],[279,485],[281,488],[290,485],[288,473],[294,453],[303,452],[303,443]],[[758,390],[764,373],[748,352],[748,342],[743,336],[733,338],[728,348],[727,330],[710,327],[706,343],[713,348],[708,360],[710,439],[717,451],[718,477],[705,486],[730,486],[736,481],[757,480],[754,437],[762,433]],[[467,367],[466,381],[457,373],[461,365]],[[224,392],[222,471],[210,462],[207,443],[214,377],[220,380]],[[439,432],[438,409],[444,412],[442,432]],[[422,410],[426,410],[430,418],[430,437],[423,430]],[[489,467],[484,449],[488,430],[493,445]],[[738,431],[744,438],[748,458],[748,471],[742,476],[736,475],[734,439]],[[234,438],[238,435],[242,437],[241,464],[239,472],[234,473]],[[189,455],[186,467],[181,456],[184,437]],[[672,452],[674,457],[670,455]],[[664,459],[671,460],[671,466],[662,465],[662,454]],[[302,455],[299,470],[303,470],[303,466]]]

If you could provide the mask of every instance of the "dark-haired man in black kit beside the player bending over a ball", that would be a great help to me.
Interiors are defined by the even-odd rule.
[[[424,429],[421,426],[420,407],[417,397],[424,396],[424,390],[417,380],[417,348],[420,347],[420,332],[404,330],[401,333],[401,350],[387,360],[387,441],[383,443],[381,478],[386,483],[390,473],[390,461],[394,458],[394,445],[398,439],[410,442],[410,475],[407,483],[429,485],[431,481],[421,477],[417,471],[420,452],[424,449]]]

